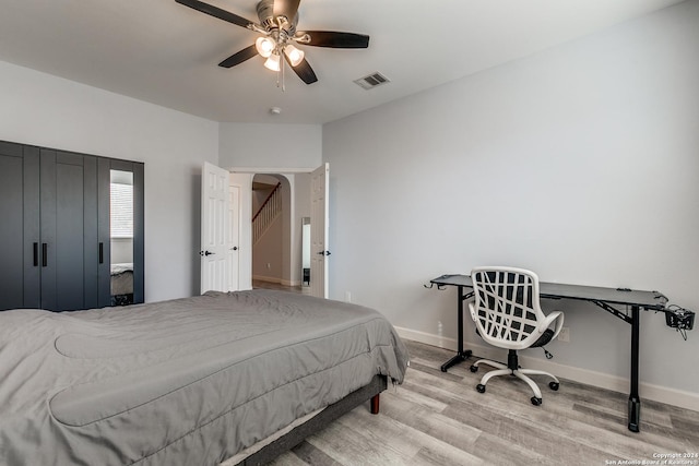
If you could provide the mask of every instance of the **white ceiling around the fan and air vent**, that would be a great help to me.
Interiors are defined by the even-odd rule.
[[[254,57],[251,31],[175,0],[3,0],[0,60],[223,122],[325,123],[680,0],[303,0],[298,29],[368,34],[368,49],[305,47],[304,84]],[[257,22],[257,0],[209,0]],[[379,71],[391,83],[353,80]],[[281,115],[272,115],[280,107]]]

